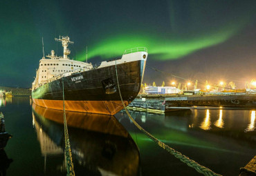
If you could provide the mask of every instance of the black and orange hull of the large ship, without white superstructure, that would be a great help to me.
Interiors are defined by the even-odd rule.
[[[138,95],[144,69],[144,60],[117,64],[125,106]],[[63,84],[65,110],[115,115],[123,108],[118,92],[116,65],[77,72],[44,84],[33,90],[33,102],[38,106],[63,110]]]

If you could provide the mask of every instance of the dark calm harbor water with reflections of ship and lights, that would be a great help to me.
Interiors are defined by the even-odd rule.
[[[256,154],[255,110],[129,113],[190,159],[221,175],[239,175]],[[0,98],[0,111],[12,135],[1,150],[0,173],[66,175],[62,111],[35,106],[29,97]],[[124,111],[66,117],[75,175],[201,175],[138,130]]]

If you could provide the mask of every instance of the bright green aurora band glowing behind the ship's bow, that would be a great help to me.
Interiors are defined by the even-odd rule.
[[[100,56],[102,59],[118,57],[125,50],[136,47],[146,47],[151,55],[158,55],[158,60],[179,59],[196,50],[208,48],[222,43],[232,37],[239,27],[223,30],[211,35],[195,37],[194,39],[165,39],[158,35],[117,35],[105,39],[91,48],[88,58]],[[77,56],[77,60],[84,61],[85,51]],[[156,59],[156,58],[155,58]]]

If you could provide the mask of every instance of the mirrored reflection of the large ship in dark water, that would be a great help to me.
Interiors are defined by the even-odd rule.
[[[66,112],[66,121],[76,174],[138,175],[138,148],[115,117]],[[65,173],[63,111],[33,104],[33,126],[46,175]]]

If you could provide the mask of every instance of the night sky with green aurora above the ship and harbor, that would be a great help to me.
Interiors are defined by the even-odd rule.
[[[68,35],[69,57],[89,62],[122,57],[129,48],[148,49],[143,82],[256,79],[256,1],[15,1],[0,6],[0,86],[30,88],[42,59],[62,55],[59,35]],[[167,73],[169,72],[169,73]]]

